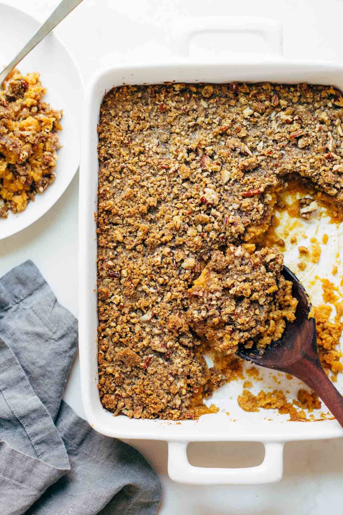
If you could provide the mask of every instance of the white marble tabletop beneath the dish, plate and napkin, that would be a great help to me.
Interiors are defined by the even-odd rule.
[[[44,20],[57,0],[5,0]],[[284,55],[292,58],[341,60],[342,0],[84,0],[56,32],[78,60],[85,81],[109,61],[125,63],[168,60],[173,28],[186,16],[255,15],[281,21]],[[15,20],[13,20],[13,27]],[[230,51],[231,39],[221,40]],[[198,38],[192,52],[213,52],[219,41]],[[234,47],[236,48],[236,46]],[[263,45],[260,47],[263,49]],[[62,304],[76,316],[78,176],[40,220],[0,242],[0,274],[32,259]],[[83,415],[78,362],[69,379],[66,400]],[[263,486],[185,486],[167,475],[167,445],[132,441],[160,474],[164,499],[159,515],[322,515],[329,506],[341,511],[343,439],[287,443],[284,477]],[[261,459],[259,444],[191,444],[189,458],[201,466],[251,466]]]

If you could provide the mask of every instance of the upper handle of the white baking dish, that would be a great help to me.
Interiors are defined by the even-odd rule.
[[[250,16],[205,16],[181,21],[173,28],[173,49],[188,57],[190,40],[206,32],[256,34],[264,39],[269,53],[282,57],[282,26],[276,20]]]

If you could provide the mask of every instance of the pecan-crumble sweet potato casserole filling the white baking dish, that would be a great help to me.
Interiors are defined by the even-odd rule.
[[[228,360],[240,345],[280,338],[297,301],[265,234],[291,178],[343,203],[342,107],[338,90],[308,84],[168,83],[105,95],[97,229],[105,408],[196,418],[196,403],[225,382],[205,348]],[[317,203],[305,197],[298,209],[309,218]]]

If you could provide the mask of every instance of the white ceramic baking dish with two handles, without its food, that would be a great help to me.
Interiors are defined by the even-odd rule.
[[[230,62],[189,62],[188,43],[191,35],[207,31],[249,32],[261,35],[270,46],[269,55],[232,55]],[[97,122],[105,91],[124,83],[273,81],[335,84],[343,89],[343,66],[337,63],[299,62],[282,58],[281,27],[260,19],[205,18],[180,25],[175,34],[174,49],[179,62],[173,64],[135,64],[109,66],[99,71],[88,84],[83,118],[80,166],[80,296],[79,341],[81,385],[84,410],[96,431],[118,438],[167,440],[168,471],[172,479],[196,484],[257,484],[274,482],[282,477],[283,443],[291,440],[334,438],[343,436],[335,420],[313,423],[287,422],[287,416],[261,410],[245,413],[237,406],[241,383],[231,383],[216,392],[214,402],[220,413],[206,415],[198,421],[175,423],[161,420],[130,420],[113,417],[102,408],[97,389],[97,294],[96,294],[96,222],[97,210]],[[270,377],[266,375],[266,381]],[[262,388],[264,383],[260,384]],[[281,384],[281,387],[283,385]],[[290,387],[296,391],[299,382]],[[280,386],[275,386],[280,387]],[[231,399],[230,399],[231,397]],[[213,401],[212,401],[213,402]],[[227,416],[225,411],[230,412]],[[262,413],[263,411],[263,413]],[[272,415],[270,415],[272,413]],[[266,420],[268,417],[269,420]],[[272,420],[270,420],[272,419]],[[190,441],[256,441],[263,442],[265,457],[261,465],[241,469],[193,467],[187,459]]]

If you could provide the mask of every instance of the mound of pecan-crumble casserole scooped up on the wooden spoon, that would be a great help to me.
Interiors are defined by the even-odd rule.
[[[187,318],[196,334],[221,353],[239,345],[265,347],[295,320],[292,283],[281,276],[283,256],[275,248],[229,245],[212,259],[188,290]],[[187,304],[186,304],[187,305]]]

